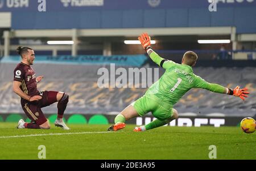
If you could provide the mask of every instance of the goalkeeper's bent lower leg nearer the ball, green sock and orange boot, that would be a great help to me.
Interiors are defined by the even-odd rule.
[[[152,122],[148,123],[147,125],[135,127],[134,131],[136,131],[136,132],[146,131],[146,130],[151,130],[156,127],[166,125],[166,124],[170,123],[172,120],[177,119],[179,117],[176,109],[172,109],[172,113],[173,114],[172,114],[171,118],[165,119],[163,121],[160,121],[159,119],[155,119],[155,121],[152,121]]]

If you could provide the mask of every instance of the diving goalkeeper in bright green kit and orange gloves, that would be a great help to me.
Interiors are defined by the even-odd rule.
[[[185,52],[181,64],[179,64],[163,59],[156,54],[150,46],[150,37],[147,33],[143,33],[138,39],[152,61],[166,71],[157,82],[148,88],[144,96],[127,106],[115,117],[115,125],[110,126],[108,131],[123,129],[125,128],[125,121],[138,116],[142,117],[148,112],[152,112],[156,118],[155,121],[135,127],[134,131],[146,131],[166,125],[178,118],[177,110],[172,106],[191,88],[204,88],[216,93],[237,96],[242,100],[245,100],[249,94],[247,88],[222,87],[218,84],[208,83],[200,76],[193,74],[192,67],[196,64],[197,54],[192,51]]]

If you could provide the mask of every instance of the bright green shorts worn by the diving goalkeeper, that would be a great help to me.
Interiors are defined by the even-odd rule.
[[[164,121],[172,117],[172,105],[162,100],[156,99],[154,95],[144,95],[133,104],[139,116],[144,116],[148,112],[152,112],[153,116],[160,121]]]

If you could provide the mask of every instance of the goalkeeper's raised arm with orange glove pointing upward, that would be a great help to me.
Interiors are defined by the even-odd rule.
[[[138,37],[138,40],[141,42],[143,49],[146,50],[152,61],[160,67],[168,69],[175,64],[175,62],[168,61],[154,52],[154,50],[151,48],[150,36],[148,36],[147,33],[142,33],[142,35]]]

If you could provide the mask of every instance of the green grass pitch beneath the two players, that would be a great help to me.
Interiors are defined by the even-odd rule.
[[[0,122],[0,159],[38,159],[38,146],[46,146],[46,159],[209,159],[210,145],[217,159],[256,159],[256,133],[240,127],[160,127],[133,132],[134,125],[110,133],[30,136],[65,132],[106,131],[109,125],[69,125],[50,130],[18,130],[16,123]]]

